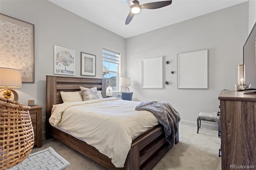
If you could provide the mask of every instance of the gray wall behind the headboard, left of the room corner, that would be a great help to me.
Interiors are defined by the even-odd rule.
[[[42,106],[43,116],[46,115],[46,75],[54,75],[54,45],[76,51],[76,77],[81,77],[82,51],[96,55],[96,77],[102,78],[103,47],[121,53],[121,67],[125,70],[124,38],[47,0],[1,0],[0,13],[35,25],[35,83],[22,83],[22,88],[16,91],[20,103],[27,104],[32,99]]]

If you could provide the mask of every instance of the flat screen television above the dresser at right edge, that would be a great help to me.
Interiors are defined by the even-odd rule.
[[[244,43],[245,84],[256,90],[256,23]]]

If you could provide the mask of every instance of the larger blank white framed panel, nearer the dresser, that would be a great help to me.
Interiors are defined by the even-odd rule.
[[[177,55],[177,87],[208,89],[208,49]]]

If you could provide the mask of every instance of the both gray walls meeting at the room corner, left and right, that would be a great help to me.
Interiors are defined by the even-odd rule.
[[[217,112],[222,89],[234,89],[236,65],[242,63],[242,46],[248,36],[248,2],[124,39],[51,2],[0,0],[0,12],[35,24],[35,83],[17,89],[19,102],[29,99],[44,107],[45,75],[53,74],[53,46],[76,51],[76,77],[80,77],[80,52],[96,55],[96,77],[102,77],[102,47],[122,55],[121,76],[131,77],[134,100],[157,99],[171,103],[181,123],[196,126],[199,112]],[[208,49],[208,89],[177,89],[177,54]],[[141,59],[163,55],[163,89],[141,89]],[[170,71],[174,70],[172,75]],[[216,129],[214,126],[203,126]]]

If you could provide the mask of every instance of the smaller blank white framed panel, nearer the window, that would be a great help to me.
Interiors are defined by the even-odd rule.
[[[142,88],[163,88],[163,56],[142,59]]]

